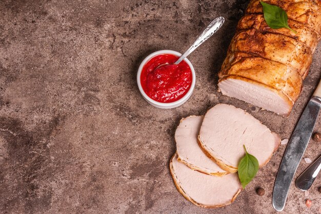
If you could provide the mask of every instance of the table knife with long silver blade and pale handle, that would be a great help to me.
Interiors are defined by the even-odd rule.
[[[320,108],[321,82],[295,126],[278,169],[272,195],[272,205],[277,211],[282,211],[285,207],[291,182],[308,146]]]

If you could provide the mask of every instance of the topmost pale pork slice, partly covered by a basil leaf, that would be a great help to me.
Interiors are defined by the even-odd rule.
[[[198,143],[222,169],[231,173],[247,151],[264,166],[280,144],[280,138],[243,109],[218,104],[208,110]]]

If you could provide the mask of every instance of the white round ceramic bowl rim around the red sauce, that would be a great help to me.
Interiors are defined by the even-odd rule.
[[[153,52],[151,54],[149,54],[144,60],[143,62],[141,63],[141,65],[139,66],[138,68],[138,72],[137,72],[137,84],[138,84],[138,88],[139,88],[139,91],[141,91],[141,94],[143,96],[143,98],[151,105],[157,107],[157,108],[175,108],[175,107],[178,107],[180,105],[182,105],[183,103],[185,103],[189,98],[190,96],[192,95],[192,92],[194,90],[194,86],[195,86],[195,70],[193,68],[193,65],[192,63],[187,59],[185,58],[184,61],[188,64],[188,66],[191,68],[191,71],[192,71],[192,84],[191,84],[191,87],[190,89],[188,90],[188,92],[183,96],[183,98],[177,100],[177,101],[174,101],[172,103],[160,103],[160,102],[157,102],[153,99],[151,99],[146,93],[145,91],[143,90],[143,87],[142,87],[142,84],[141,84],[141,74],[142,74],[142,70],[143,70],[143,67],[144,65],[150,60],[152,59],[152,57],[154,56],[157,56],[157,55],[160,55],[160,54],[173,54],[173,55],[176,55],[176,56],[181,56],[182,54],[181,53],[178,53],[176,51],[173,51],[173,50],[159,50],[159,51],[156,51],[156,52]]]

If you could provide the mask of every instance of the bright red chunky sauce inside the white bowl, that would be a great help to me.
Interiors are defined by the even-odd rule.
[[[172,54],[161,54],[154,56],[144,65],[141,84],[151,99],[161,103],[172,103],[183,98],[190,89],[191,68],[185,61],[173,65],[178,58]]]

